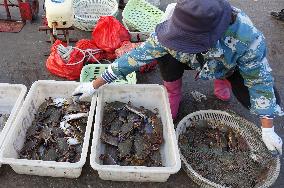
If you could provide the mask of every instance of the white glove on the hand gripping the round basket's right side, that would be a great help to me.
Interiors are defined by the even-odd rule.
[[[274,132],[274,127],[262,128],[262,140],[272,154],[282,155],[282,139]]]

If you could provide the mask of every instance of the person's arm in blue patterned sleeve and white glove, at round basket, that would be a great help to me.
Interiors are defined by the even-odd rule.
[[[282,139],[274,132],[273,118],[283,115],[283,111],[276,103],[274,79],[262,35],[256,37],[247,52],[239,58],[238,67],[249,89],[251,111],[260,117],[263,142],[272,154],[282,154]]]

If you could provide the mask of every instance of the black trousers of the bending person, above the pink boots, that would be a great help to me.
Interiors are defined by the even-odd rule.
[[[191,70],[186,64],[177,61],[171,55],[165,55],[157,59],[162,78],[166,82],[172,82],[182,77],[184,70]],[[244,78],[239,70],[235,70],[233,74],[226,78],[232,86],[232,92],[238,101],[247,109],[251,107],[250,95],[248,87],[244,84]],[[280,104],[280,96],[274,87],[276,103]]]

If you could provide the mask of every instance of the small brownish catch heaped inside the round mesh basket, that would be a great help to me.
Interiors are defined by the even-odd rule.
[[[225,187],[255,187],[273,160],[256,159],[240,132],[217,120],[197,120],[179,136],[187,163],[202,177]]]

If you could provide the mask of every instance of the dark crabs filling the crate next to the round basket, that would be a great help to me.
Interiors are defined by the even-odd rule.
[[[101,141],[104,165],[161,167],[162,122],[157,112],[131,103],[106,103]]]

